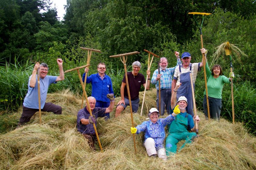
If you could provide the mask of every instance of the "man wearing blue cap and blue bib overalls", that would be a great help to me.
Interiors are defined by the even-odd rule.
[[[205,49],[201,49],[201,53],[205,53]],[[176,83],[181,83],[180,88],[177,91],[177,99],[181,96],[184,96],[188,100],[188,106],[186,107],[186,111],[192,117],[194,116],[193,112],[193,98],[192,98],[192,89],[191,89],[191,82],[190,82],[190,75],[192,73],[192,81],[193,86],[195,88],[195,81],[196,75],[200,68],[203,66],[203,62],[201,63],[190,63],[191,55],[189,52],[184,52],[181,55],[182,64],[177,66],[173,75],[172,80],[172,90],[175,90]],[[176,92],[176,91],[175,91]]]

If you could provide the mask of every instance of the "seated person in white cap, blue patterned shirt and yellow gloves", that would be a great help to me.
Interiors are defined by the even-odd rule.
[[[156,108],[151,108],[148,113],[149,120],[144,121],[136,128],[131,127],[132,134],[145,132],[143,145],[145,146],[148,156],[156,156],[166,160],[166,152],[164,149],[165,131],[164,127],[174,120],[174,117],[180,113],[178,106],[173,110],[173,113],[166,118],[158,119],[159,112]]]

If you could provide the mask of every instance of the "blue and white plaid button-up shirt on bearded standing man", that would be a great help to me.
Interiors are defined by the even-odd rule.
[[[165,70],[162,70],[160,68],[160,74],[162,74],[161,79],[160,79],[161,89],[171,89],[172,88],[172,76],[174,74],[175,68],[179,65],[181,65],[180,58],[177,59],[177,65],[175,67],[166,68]],[[156,89],[159,90],[158,81],[156,81],[157,74],[158,74],[158,69],[156,69],[154,71],[152,79],[151,79],[151,83],[155,84]]]

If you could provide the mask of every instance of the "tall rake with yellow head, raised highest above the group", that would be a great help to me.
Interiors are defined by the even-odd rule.
[[[201,40],[201,48],[204,48],[203,45],[203,34],[202,34],[202,26],[203,26],[203,22],[204,22],[204,16],[205,15],[211,15],[211,13],[204,13],[204,12],[189,12],[188,14],[193,14],[193,18],[195,19],[195,14],[197,15],[202,15],[203,19],[202,19],[202,23],[201,26],[199,26],[199,24],[196,21],[197,26],[199,27],[200,30],[200,40]],[[204,65],[204,84],[205,84],[205,92],[206,92],[206,103],[207,103],[207,112],[208,112],[208,120],[210,120],[210,109],[209,109],[209,100],[208,100],[208,89],[207,89],[207,80],[206,80],[206,70],[205,70],[205,60],[204,60],[204,54],[202,54],[203,57],[203,65]]]

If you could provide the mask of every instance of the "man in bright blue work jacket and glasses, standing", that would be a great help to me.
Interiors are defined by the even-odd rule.
[[[107,94],[113,93],[112,81],[110,77],[105,74],[106,72],[106,65],[105,63],[99,63],[97,66],[98,73],[91,74],[86,79],[86,83],[92,83],[92,97],[96,99],[95,107],[108,107],[110,102],[109,99],[106,97]],[[83,74],[83,82],[85,79],[85,73],[88,73],[89,69],[84,69]],[[105,114],[106,119],[109,119],[109,113]]]

